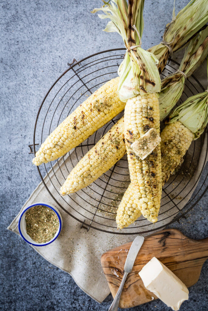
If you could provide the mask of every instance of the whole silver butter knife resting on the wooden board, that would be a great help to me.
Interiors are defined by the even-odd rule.
[[[138,251],[140,250],[143,242],[144,242],[144,237],[141,235],[138,235],[133,240],[133,243],[132,243],[132,245],[128,251],[128,255],[126,258],[125,265],[124,265],[124,275],[123,275],[123,279],[121,281],[121,285],[119,286],[119,290],[118,290],[117,294],[115,295],[114,301],[112,302],[108,311],[117,311],[118,310],[119,301],[120,301],[121,293],[123,290],[123,285],[126,281],[126,277],[128,276],[128,273],[132,271],[133,264],[135,262]]]

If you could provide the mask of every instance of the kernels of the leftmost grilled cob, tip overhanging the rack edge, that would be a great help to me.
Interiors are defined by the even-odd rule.
[[[36,152],[33,164],[40,165],[65,155],[78,146],[97,129],[119,114],[125,106],[117,97],[119,77],[101,86],[75,109],[50,135]],[[107,90],[110,88],[110,94]],[[93,117],[93,115],[95,117]],[[99,118],[100,117],[100,118]],[[59,148],[58,148],[59,147]],[[58,154],[51,155],[59,149]]]

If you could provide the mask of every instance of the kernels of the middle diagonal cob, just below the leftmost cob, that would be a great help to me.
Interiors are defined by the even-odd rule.
[[[116,161],[120,160],[126,151],[123,139],[123,118],[121,118],[72,169],[60,188],[61,195],[76,192],[94,182],[114,165],[115,153]]]

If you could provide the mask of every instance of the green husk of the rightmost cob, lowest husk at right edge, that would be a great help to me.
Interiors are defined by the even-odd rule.
[[[168,123],[174,123],[176,121],[180,121],[186,128],[193,132],[194,140],[200,137],[208,123],[208,88],[203,93],[189,97],[172,112]]]

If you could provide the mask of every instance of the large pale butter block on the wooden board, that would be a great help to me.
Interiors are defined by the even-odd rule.
[[[139,276],[144,286],[173,310],[179,310],[182,302],[188,299],[186,285],[155,257],[142,268]]]

